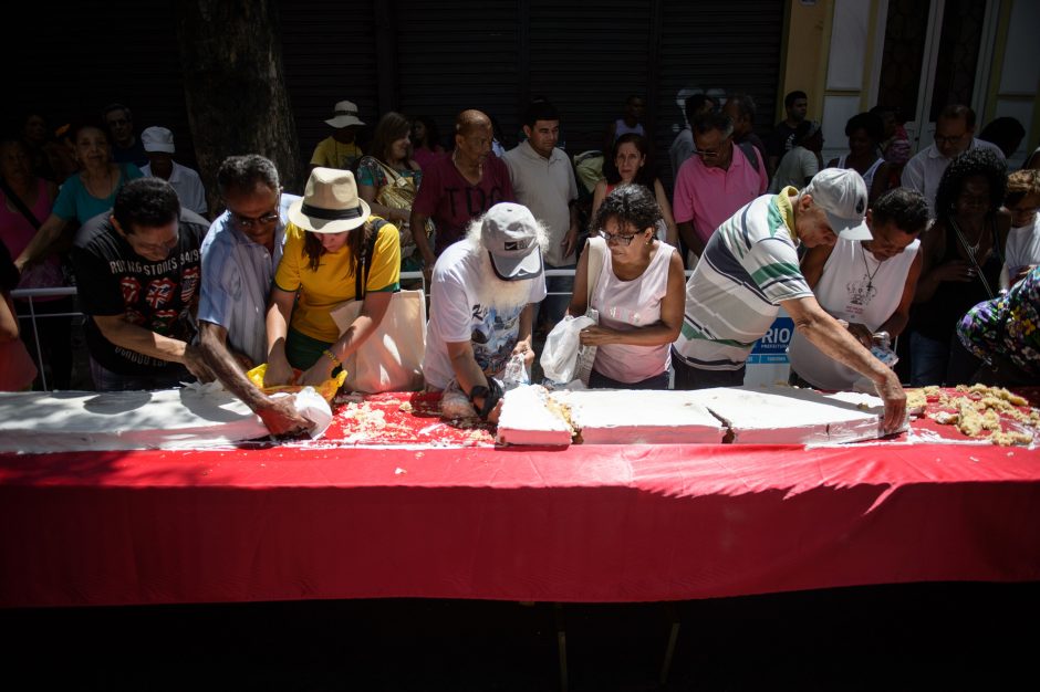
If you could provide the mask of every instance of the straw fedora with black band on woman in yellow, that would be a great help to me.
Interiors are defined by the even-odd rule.
[[[372,210],[357,197],[354,174],[339,168],[315,168],[303,199],[289,206],[289,220],[313,233],[342,233],[363,226]]]

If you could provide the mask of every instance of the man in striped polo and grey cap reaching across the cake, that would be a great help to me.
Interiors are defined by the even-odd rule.
[[[765,195],[724,222],[686,284],[686,314],[673,345],[676,389],[739,386],[755,342],[780,307],[826,356],[874,382],[885,403],[883,431],[898,430],[906,395],[895,374],[817,302],[799,270],[798,247],[838,237],[871,240],[866,186],[851,169],[828,168],[801,191]]]

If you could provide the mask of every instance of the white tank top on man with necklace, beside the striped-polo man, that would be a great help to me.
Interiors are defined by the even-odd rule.
[[[860,241],[839,240],[813,290],[817,301],[832,317],[857,322],[875,332],[899,306],[919,248],[921,241],[915,240],[901,254],[878,262]],[[791,337],[788,358],[792,370],[820,389],[850,389],[862,377],[823,354],[800,332]]]

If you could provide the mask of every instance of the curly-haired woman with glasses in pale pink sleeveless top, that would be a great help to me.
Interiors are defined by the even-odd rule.
[[[672,343],[686,310],[686,280],[678,251],[656,238],[661,219],[654,195],[642,185],[617,188],[593,217],[600,238],[589,242],[605,249],[582,253],[568,308],[575,316],[589,307],[599,313],[599,324],[581,332],[582,344],[597,347],[589,378],[592,388],[668,388]],[[590,291],[593,254],[602,255],[603,263]]]

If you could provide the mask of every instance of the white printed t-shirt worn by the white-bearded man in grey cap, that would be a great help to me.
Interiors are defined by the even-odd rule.
[[[426,385],[444,389],[455,379],[448,358],[448,344],[469,340],[477,365],[485,375],[506,368],[520,333],[520,313],[527,303],[545,297],[545,276],[528,280],[531,292],[527,303],[508,312],[481,305],[475,286],[499,281],[483,274],[483,250],[474,251],[468,240],[448,245],[434,265],[429,289],[429,324],[426,327],[426,358],[423,375]]]

